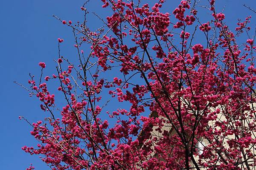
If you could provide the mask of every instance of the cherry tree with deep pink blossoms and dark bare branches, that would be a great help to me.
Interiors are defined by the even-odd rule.
[[[52,170],[255,170],[251,16],[234,27],[215,0],[201,13],[200,0],[162,13],[166,1],[99,1],[112,14],[95,14],[102,21],[95,31],[88,1],[82,22],[54,16],[73,33],[76,61],[61,54],[59,38],[54,75],[40,62],[41,75],[23,86],[47,114],[33,124],[20,116],[38,141],[25,152]],[[202,22],[205,13],[212,15]]]

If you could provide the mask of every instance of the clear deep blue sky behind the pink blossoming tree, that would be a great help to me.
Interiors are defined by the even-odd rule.
[[[149,2],[148,0],[144,0]],[[205,0],[202,0],[205,1]],[[172,13],[178,0],[167,0],[166,12]],[[0,3],[0,169],[25,170],[32,163],[36,170],[47,170],[38,156],[30,156],[21,150],[24,145],[36,144],[30,135],[31,127],[18,119],[19,115],[37,121],[46,113],[39,108],[37,99],[29,97],[28,92],[13,83],[18,81],[27,85],[28,73],[39,74],[38,62],[47,63],[47,72],[52,73],[57,58],[57,38],[64,38],[65,49],[62,54],[74,57],[73,37],[70,29],[52,17],[52,14],[64,20],[82,20],[80,7],[83,0],[1,0]],[[252,15],[252,28],[255,28],[256,14],[244,8],[247,4],[256,9],[255,0],[216,0],[217,11],[224,5],[226,22],[236,26],[237,18],[244,19]],[[87,9],[101,16],[108,13],[100,8],[100,0],[91,0]],[[165,6],[166,6],[165,5]],[[92,16],[92,15],[91,15]],[[209,14],[203,15],[207,20]],[[89,25],[97,26],[100,21],[95,17]],[[198,40],[199,42],[200,40]],[[86,50],[86,49],[84,49]]]

